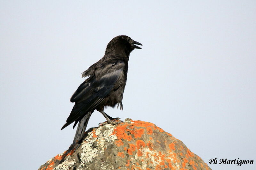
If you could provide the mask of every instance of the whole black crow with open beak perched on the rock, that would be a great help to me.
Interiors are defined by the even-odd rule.
[[[142,45],[126,35],[113,38],[107,45],[105,55],[82,73],[82,78],[87,76],[89,78],[72,95],[70,101],[75,102],[75,105],[68,116],[67,123],[61,128],[62,130],[75,122],[74,129],[79,122],[73,145],[82,139],[89,118],[95,109],[107,119],[108,123],[121,122],[119,118],[112,118],[103,110],[106,106],[115,107],[116,105],[123,109],[122,99],[129,56],[134,48],[141,49],[135,44]]]

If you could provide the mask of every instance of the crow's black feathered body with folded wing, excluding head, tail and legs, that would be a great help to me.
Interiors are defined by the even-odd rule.
[[[83,76],[90,77],[72,95],[70,101],[75,102],[75,105],[64,126],[74,121],[77,123],[84,113],[95,109],[103,110],[106,106],[115,107],[116,104],[122,109],[127,70],[128,62],[108,56],[84,71]]]

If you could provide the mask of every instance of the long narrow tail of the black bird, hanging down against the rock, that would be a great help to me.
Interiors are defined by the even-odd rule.
[[[76,129],[76,135],[74,137],[74,140],[73,140],[73,145],[75,146],[76,144],[78,144],[83,136],[84,136],[84,132],[85,132],[85,129],[87,127],[87,124],[89,122],[89,119],[92,115],[92,112],[88,112],[78,123],[78,126],[77,126],[77,129]]]

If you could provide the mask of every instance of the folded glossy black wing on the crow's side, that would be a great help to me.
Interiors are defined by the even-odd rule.
[[[95,109],[105,97],[110,95],[124,77],[124,62],[109,62],[103,68],[96,68],[95,73],[86,79],[72,95],[70,101],[76,102],[65,127]]]

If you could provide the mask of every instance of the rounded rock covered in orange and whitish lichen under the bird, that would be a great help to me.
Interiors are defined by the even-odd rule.
[[[61,163],[60,163],[61,162]],[[153,123],[126,119],[89,129],[81,145],[39,170],[210,170],[180,140]]]

